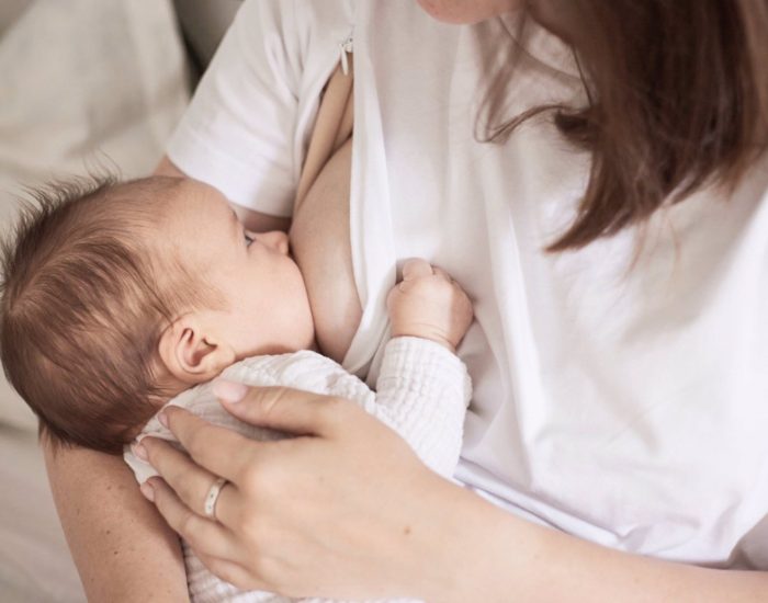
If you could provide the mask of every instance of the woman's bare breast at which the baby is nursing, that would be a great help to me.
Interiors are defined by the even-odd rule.
[[[362,307],[349,237],[351,138],[328,160],[296,207],[290,237],[306,283],[320,351],[341,362],[360,325]]]

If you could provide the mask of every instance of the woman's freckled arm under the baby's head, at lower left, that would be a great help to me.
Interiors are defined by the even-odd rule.
[[[121,458],[82,448],[53,454],[48,479],[89,601],[187,601],[177,535],[142,497]]]

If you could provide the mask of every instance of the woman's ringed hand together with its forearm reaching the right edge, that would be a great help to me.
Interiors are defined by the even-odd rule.
[[[217,385],[219,397],[236,387]],[[225,407],[298,436],[256,442],[169,408],[168,426],[192,458],[153,437],[142,447],[167,481],[151,478],[148,498],[240,588],[441,603],[766,601],[768,573],[629,555],[506,513],[429,471],[348,400],[252,388]],[[203,508],[217,476],[229,482],[214,521]]]

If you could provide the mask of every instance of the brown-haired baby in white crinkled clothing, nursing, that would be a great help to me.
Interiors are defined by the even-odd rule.
[[[219,375],[248,385],[342,396],[395,429],[450,477],[470,401],[453,353],[472,321],[464,292],[421,260],[387,299],[393,339],[374,394],[315,349],[313,317],[283,232],[245,230],[225,197],[193,180],[59,185],[36,195],[2,250],[0,352],[5,374],[55,445],[124,453],[173,436],[155,414],[182,406],[256,439],[283,434],[229,416]],[[193,601],[284,601],[244,593],[184,545]]]

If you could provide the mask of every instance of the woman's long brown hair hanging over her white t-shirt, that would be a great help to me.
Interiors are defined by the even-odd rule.
[[[577,216],[550,251],[642,224],[702,186],[731,191],[768,147],[768,0],[529,0],[530,18],[542,2],[590,102],[505,122],[498,79],[485,137],[554,110],[561,133],[591,151]]]

